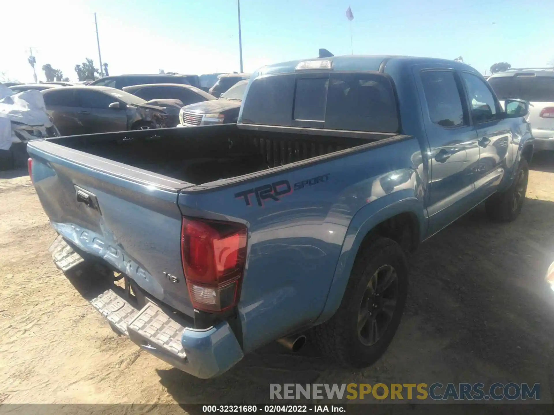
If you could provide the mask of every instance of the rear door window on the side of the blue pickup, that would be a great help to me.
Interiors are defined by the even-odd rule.
[[[447,128],[466,124],[460,86],[453,71],[423,71],[421,82],[433,123]]]

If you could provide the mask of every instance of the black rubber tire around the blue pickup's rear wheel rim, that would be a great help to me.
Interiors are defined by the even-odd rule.
[[[388,269],[383,267],[392,267],[396,272],[396,303],[392,312],[390,307],[387,307],[389,308],[387,313],[384,312],[384,308],[381,311],[383,315],[386,314],[387,319],[390,314],[390,319],[388,324],[382,328],[382,333],[375,338],[376,341],[370,344],[371,341],[368,342],[364,334],[367,326],[362,326],[362,329],[359,330],[358,323],[360,323],[360,315],[363,314],[361,313],[362,305],[365,304],[368,290],[371,288],[370,282],[373,279],[379,281],[381,278],[378,276],[379,273]],[[377,277],[375,277],[376,275]],[[358,253],[341,305],[335,315],[312,330],[317,348],[323,355],[342,366],[361,368],[373,364],[387,350],[398,329],[404,305],[406,305],[407,291],[408,263],[402,248],[393,240],[377,238]],[[388,299],[385,299],[389,294],[387,294],[387,290],[384,293],[381,301],[389,302],[392,297],[389,296]],[[379,301],[375,295],[370,295],[368,298],[373,306]],[[368,308],[372,309],[372,307]],[[378,321],[381,314],[379,314],[379,310],[375,313],[373,319]],[[370,321],[370,317],[366,318],[367,321]]]

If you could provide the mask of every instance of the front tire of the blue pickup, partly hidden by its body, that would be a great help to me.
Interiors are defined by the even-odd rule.
[[[487,216],[497,222],[511,222],[519,216],[529,181],[529,164],[521,158],[514,183],[509,189],[495,193],[485,201]]]

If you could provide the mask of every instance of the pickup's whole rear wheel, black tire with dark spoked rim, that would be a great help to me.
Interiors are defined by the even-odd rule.
[[[408,290],[406,256],[398,243],[378,238],[358,254],[335,315],[314,328],[322,353],[347,367],[366,367],[387,350]]]

